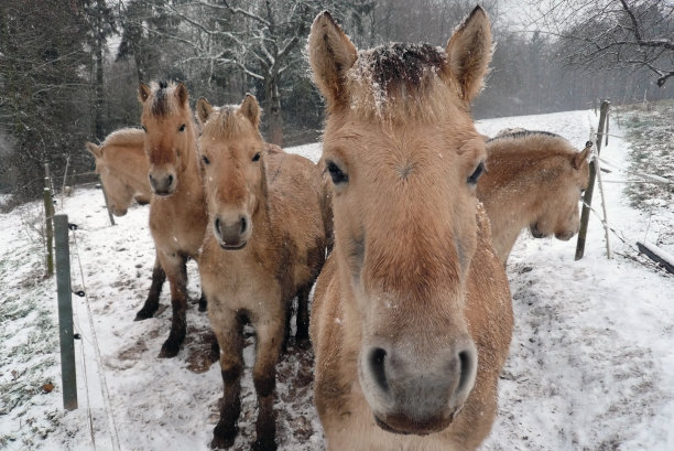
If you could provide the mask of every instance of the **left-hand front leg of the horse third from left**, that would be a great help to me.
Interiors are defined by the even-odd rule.
[[[209,314],[220,346],[220,371],[224,398],[220,420],[213,430],[210,448],[229,448],[239,429],[237,421],[241,411],[241,373],[243,372],[243,322],[236,312]]]

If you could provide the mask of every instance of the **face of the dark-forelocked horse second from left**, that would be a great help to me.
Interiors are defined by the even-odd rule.
[[[139,99],[143,104],[141,125],[145,131],[145,154],[150,163],[148,178],[152,192],[168,196],[178,186],[182,172],[193,152],[194,121],[183,83],[141,83]]]

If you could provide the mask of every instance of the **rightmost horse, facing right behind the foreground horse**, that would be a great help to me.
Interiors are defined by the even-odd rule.
[[[580,229],[578,201],[589,181],[588,154],[546,131],[499,133],[487,141],[478,198],[491,221],[493,248],[506,265],[520,232],[568,240]]]

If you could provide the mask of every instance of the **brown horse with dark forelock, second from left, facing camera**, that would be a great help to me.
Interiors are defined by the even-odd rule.
[[[206,230],[207,212],[202,172],[196,154],[196,124],[183,83],[140,84],[141,124],[152,187],[150,232],[157,261],[171,286],[171,333],[160,357],[173,357],[185,339],[187,309],[187,258],[196,259]],[[161,284],[160,284],[161,288]],[[159,300],[157,300],[159,302]],[[145,307],[148,311],[145,312]],[[156,305],[145,303],[139,312],[152,315]]]

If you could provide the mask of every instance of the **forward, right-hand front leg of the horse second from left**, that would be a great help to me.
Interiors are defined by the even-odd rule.
[[[187,259],[176,254],[162,254],[161,260],[162,267],[166,271],[168,283],[171,284],[173,318],[171,320],[171,333],[162,345],[162,351],[159,356],[175,357],[183,340],[185,340],[185,331],[187,329],[185,319],[185,312],[187,310],[187,268],[185,264]]]

